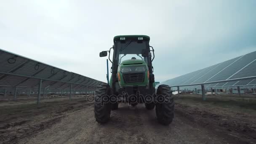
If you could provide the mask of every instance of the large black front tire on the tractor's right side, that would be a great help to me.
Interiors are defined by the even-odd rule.
[[[157,88],[157,96],[159,95],[164,96],[164,102],[156,102],[155,111],[157,120],[160,124],[169,125],[174,117],[174,101],[170,87],[168,85],[159,85]]]

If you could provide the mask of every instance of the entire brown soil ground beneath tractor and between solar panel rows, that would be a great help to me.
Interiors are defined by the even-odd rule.
[[[157,123],[155,110],[147,110],[144,104],[120,104],[109,123],[101,125],[94,119],[93,103],[84,97],[45,100],[40,106],[35,101],[1,103],[0,143],[256,143],[253,105],[240,107],[243,102],[239,100],[225,103],[226,98],[213,96],[206,102],[190,95],[175,99],[175,118],[169,126]],[[225,107],[228,104],[230,107]]]

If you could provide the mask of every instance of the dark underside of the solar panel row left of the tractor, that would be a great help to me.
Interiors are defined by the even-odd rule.
[[[35,88],[39,85],[39,79],[43,80],[42,88],[57,89],[67,89],[72,83],[73,89],[83,89],[88,86],[89,90],[103,83],[0,49],[1,87]]]

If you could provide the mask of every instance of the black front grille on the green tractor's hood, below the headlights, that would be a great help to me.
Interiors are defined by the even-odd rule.
[[[123,74],[123,80],[125,83],[144,82],[144,77],[145,77],[145,73]]]

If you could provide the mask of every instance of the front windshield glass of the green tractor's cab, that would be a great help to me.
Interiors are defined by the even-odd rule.
[[[136,59],[141,59],[147,62],[147,59],[141,56],[144,49],[148,48],[148,41],[136,41],[136,40],[126,40],[125,42],[117,41],[115,43],[116,53],[115,59],[118,59],[119,64],[127,59],[135,57]]]

